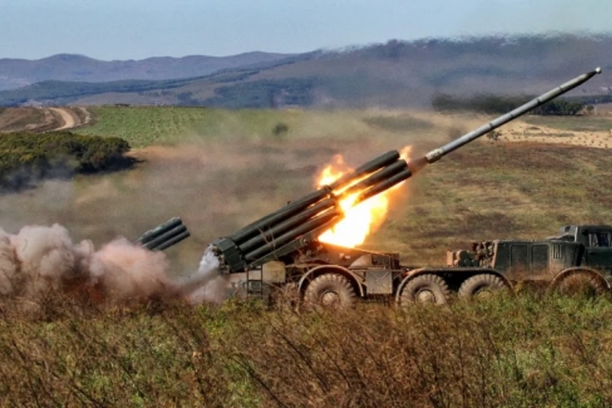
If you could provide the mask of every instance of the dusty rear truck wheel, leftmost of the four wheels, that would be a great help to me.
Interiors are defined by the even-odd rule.
[[[324,273],[313,279],[306,287],[304,303],[308,307],[323,307],[335,310],[349,309],[357,295],[351,282],[338,273]]]

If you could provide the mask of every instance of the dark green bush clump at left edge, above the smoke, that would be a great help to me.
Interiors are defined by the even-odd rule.
[[[0,188],[15,190],[48,177],[121,169],[132,163],[119,138],[71,132],[8,133],[0,136]]]

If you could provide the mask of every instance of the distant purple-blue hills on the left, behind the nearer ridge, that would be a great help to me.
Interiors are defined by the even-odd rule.
[[[171,80],[244,65],[265,64],[289,55],[255,51],[226,57],[192,55],[181,58],[151,57],[138,61],[100,61],[75,54],[57,54],[36,60],[0,58],[0,91],[41,81]]]

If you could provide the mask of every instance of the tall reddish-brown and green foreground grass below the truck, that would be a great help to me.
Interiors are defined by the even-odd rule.
[[[610,299],[406,311],[2,304],[7,406],[610,406]]]

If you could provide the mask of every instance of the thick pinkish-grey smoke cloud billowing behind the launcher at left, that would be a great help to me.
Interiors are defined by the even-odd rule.
[[[0,295],[43,301],[51,292],[92,302],[185,299],[191,303],[223,300],[210,256],[190,281],[173,280],[162,252],[149,251],[119,237],[95,251],[90,240],[73,243],[67,229],[24,226],[17,234],[0,229]],[[215,286],[208,284],[215,280]],[[221,290],[221,291],[219,291]]]

